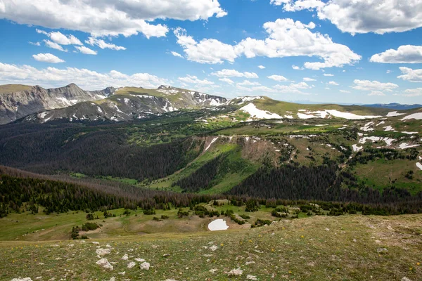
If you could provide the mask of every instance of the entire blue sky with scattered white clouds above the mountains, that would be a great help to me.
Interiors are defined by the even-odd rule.
[[[418,0],[46,2],[0,0],[0,84],[422,103]]]

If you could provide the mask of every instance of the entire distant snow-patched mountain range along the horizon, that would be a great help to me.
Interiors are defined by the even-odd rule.
[[[0,124],[51,122],[53,120],[122,122],[167,112],[200,109],[224,110],[223,119],[244,122],[257,119],[343,118],[371,119],[388,116],[391,109],[413,107],[391,105],[298,104],[266,96],[227,99],[172,86],[158,89],[126,86],[84,91],[75,84],[57,89],[41,86],[0,86]]]

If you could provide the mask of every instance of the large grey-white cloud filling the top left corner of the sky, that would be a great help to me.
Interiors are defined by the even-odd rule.
[[[0,0],[0,18],[25,25],[88,32],[94,37],[136,35],[163,37],[165,25],[151,25],[156,19],[207,20],[227,13],[217,0]]]

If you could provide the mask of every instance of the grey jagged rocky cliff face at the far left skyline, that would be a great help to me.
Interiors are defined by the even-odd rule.
[[[0,86],[0,124],[7,124],[42,110],[68,107],[82,101],[100,100],[115,91],[113,87],[102,91],[84,91],[75,84],[57,89],[13,86]]]

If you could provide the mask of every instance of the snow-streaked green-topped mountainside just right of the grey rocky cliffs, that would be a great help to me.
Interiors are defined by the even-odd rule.
[[[64,119],[70,122],[82,120],[122,122],[161,115],[165,112],[216,107],[226,101],[226,98],[172,86],[160,86],[158,89],[123,87],[108,98],[39,112],[26,117],[24,121],[48,122]]]

